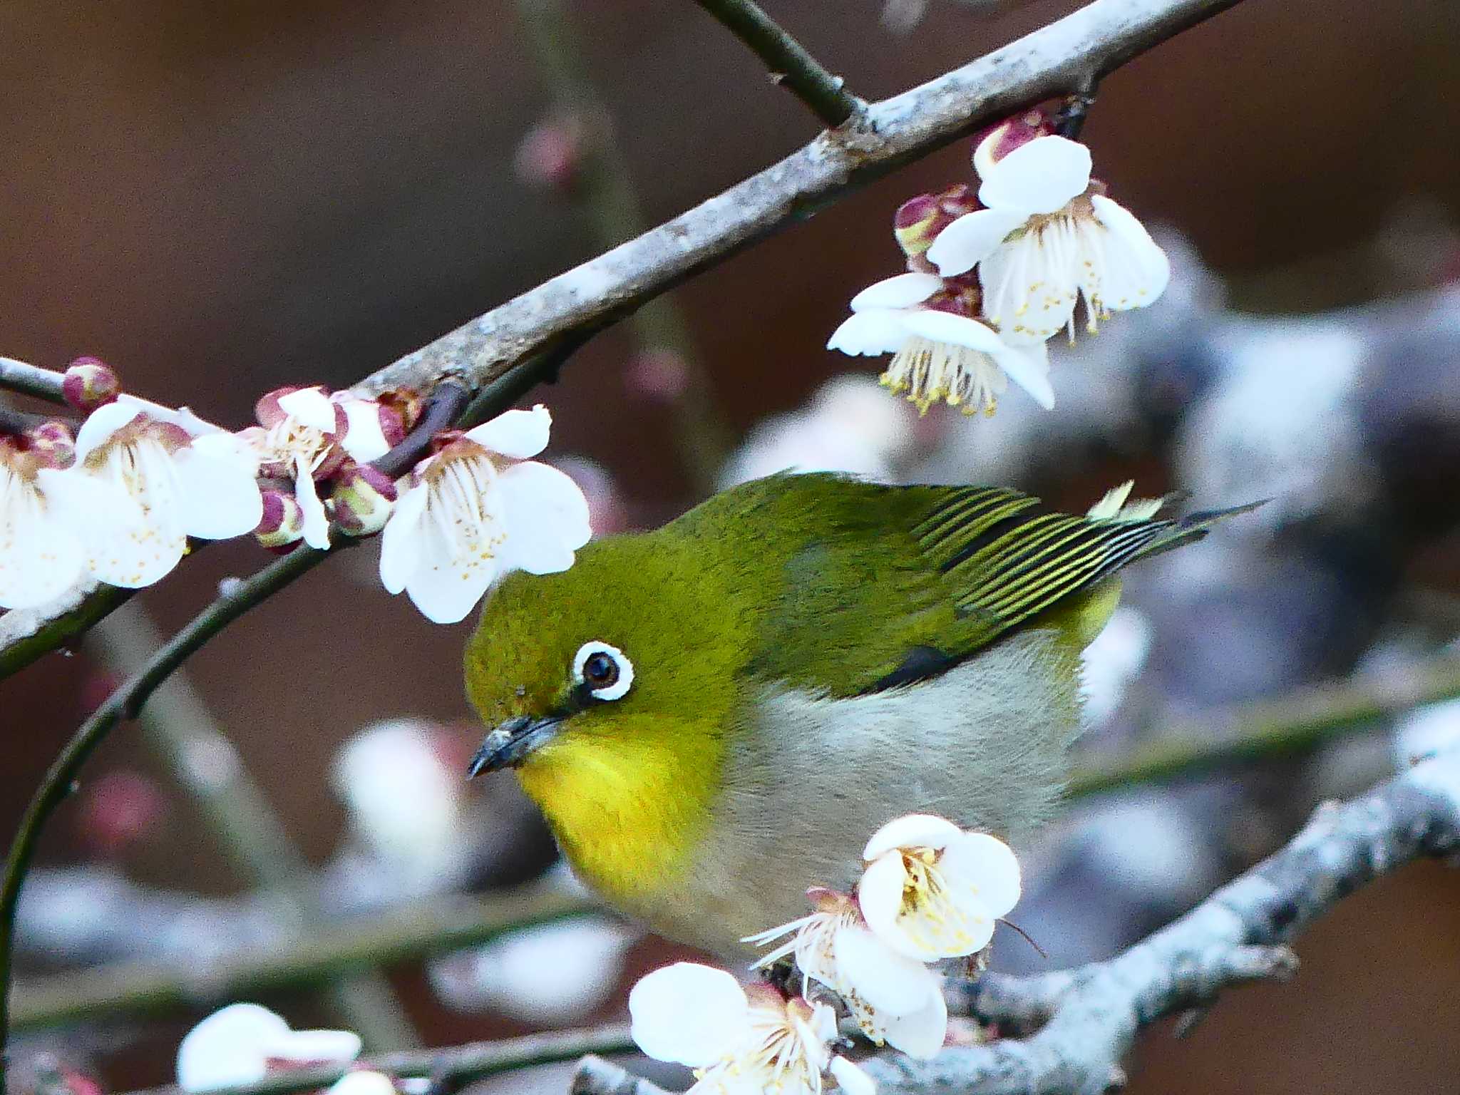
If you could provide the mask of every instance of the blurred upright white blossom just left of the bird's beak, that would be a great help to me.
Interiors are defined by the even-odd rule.
[[[412,718],[375,723],[340,748],[330,772],[361,850],[407,894],[438,888],[469,844],[466,781],[445,764],[442,733]]]

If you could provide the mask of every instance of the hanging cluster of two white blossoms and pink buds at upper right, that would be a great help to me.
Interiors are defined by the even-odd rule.
[[[1009,380],[1053,407],[1045,342],[1075,340],[1076,305],[1094,333],[1152,304],[1171,273],[1091,166],[1044,111],[994,127],[974,152],[977,197],[956,185],[904,203],[894,234],[908,273],[857,293],[828,349],[894,355],[882,383],[920,412],[942,400],[991,415]]]

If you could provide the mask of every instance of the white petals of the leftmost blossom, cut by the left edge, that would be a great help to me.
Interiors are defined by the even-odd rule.
[[[77,477],[72,473],[67,482]],[[0,609],[29,609],[54,600],[85,569],[80,537],[54,512],[41,483],[22,483],[0,467]]]

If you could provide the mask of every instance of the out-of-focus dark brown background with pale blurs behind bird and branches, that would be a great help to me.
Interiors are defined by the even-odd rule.
[[[882,98],[1075,4],[765,7]],[[553,410],[549,456],[600,531],[787,466],[1015,485],[1075,510],[1129,477],[1203,508],[1273,498],[1132,572],[1091,654],[1091,764],[1174,724],[1237,733],[1210,715],[1232,704],[1406,672],[1460,635],[1457,50],[1447,0],[1247,0],[1111,76],[1083,139],[1175,274],[1156,307],[1056,349],[1053,413],[1010,391],[993,419],[918,419],[876,388],[877,362],[822,349],[851,293],[901,269],[892,210],[971,180],[961,143],[599,336],[533,393]],[[0,350],[51,368],[93,353],[131,391],[234,428],[260,393],[345,387],[815,133],[683,0],[9,0],[0,53]],[[4,682],[6,832],[153,629],[266,558],[219,543]],[[188,1026],[239,999],[207,977],[239,956],[396,907],[476,915],[451,895],[571,894],[512,783],[458,778],[480,734],[466,634],[385,596],[365,546],[213,639],[112,734],[22,902],[20,1058],[162,1083]],[[996,967],[1113,953],[1323,797],[1457,729],[1437,705],[1256,769],[1080,800],[1029,851],[1018,920],[1048,959],[1004,933]],[[1184,1042],[1143,1038],[1132,1091],[1451,1091],[1457,898],[1460,879],[1418,866],[1348,899],[1299,940],[1296,984],[1234,993]],[[247,999],[296,1026],[374,1015],[366,1040],[445,1045],[612,1019],[637,974],[685,953],[599,918],[435,949],[347,988],[260,981]],[[187,1002],[57,1025],[83,983],[55,978],[117,964],[187,971]]]

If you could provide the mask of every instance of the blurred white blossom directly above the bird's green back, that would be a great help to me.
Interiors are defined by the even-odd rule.
[[[892,482],[915,444],[917,416],[870,377],[834,377],[804,409],[755,426],[730,457],[721,488],[775,472],[847,472]]]

